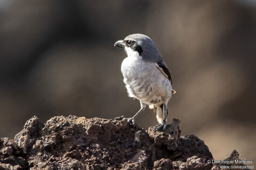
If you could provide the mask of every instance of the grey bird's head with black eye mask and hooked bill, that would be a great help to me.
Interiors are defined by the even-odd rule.
[[[143,34],[128,35],[124,40],[116,41],[114,46],[124,48],[128,56],[139,55],[144,59],[151,60],[161,57],[155,43]]]

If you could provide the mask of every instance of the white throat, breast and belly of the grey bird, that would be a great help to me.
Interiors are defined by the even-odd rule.
[[[121,71],[129,96],[148,105],[169,100],[172,91],[171,83],[156,64],[145,62],[139,53],[131,48],[126,47],[125,50],[128,57],[124,59]]]

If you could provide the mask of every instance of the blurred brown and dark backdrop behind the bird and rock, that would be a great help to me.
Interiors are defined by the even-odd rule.
[[[114,43],[148,35],[177,91],[168,123],[181,120],[216,160],[234,149],[256,161],[255,1],[0,1],[0,137],[36,115],[132,117],[124,51]],[[150,109],[136,119],[157,124]]]

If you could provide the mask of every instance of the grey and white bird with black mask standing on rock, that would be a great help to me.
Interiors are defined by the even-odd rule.
[[[146,35],[131,34],[116,41],[114,46],[124,48],[127,54],[121,72],[128,96],[140,100],[140,110],[128,122],[135,123],[136,117],[148,105],[159,123],[153,130],[164,130],[167,104],[176,91],[172,89],[171,74],[155,43]]]

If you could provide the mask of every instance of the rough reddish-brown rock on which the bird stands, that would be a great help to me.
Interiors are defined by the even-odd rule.
[[[14,140],[0,139],[0,170],[219,169],[207,163],[213,158],[204,141],[180,132],[178,119],[165,131],[152,131],[124,117],[57,116],[42,124],[34,116]]]

